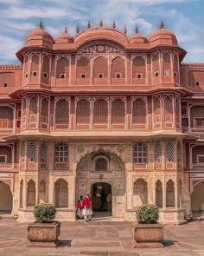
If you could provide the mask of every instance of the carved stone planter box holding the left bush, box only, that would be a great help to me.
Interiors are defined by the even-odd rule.
[[[58,221],[31,223],[28,226],[28,247],[57,247],[60,233],[61,223]]]

